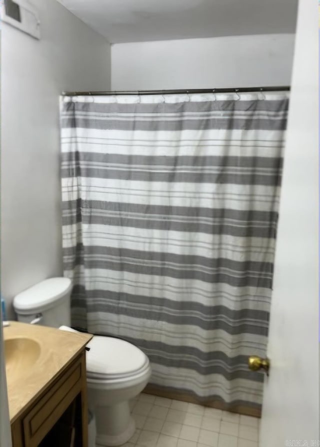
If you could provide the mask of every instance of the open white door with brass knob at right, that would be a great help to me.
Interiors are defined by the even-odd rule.
[[[299,1],[260,447],[320,445],[316,3]]]

